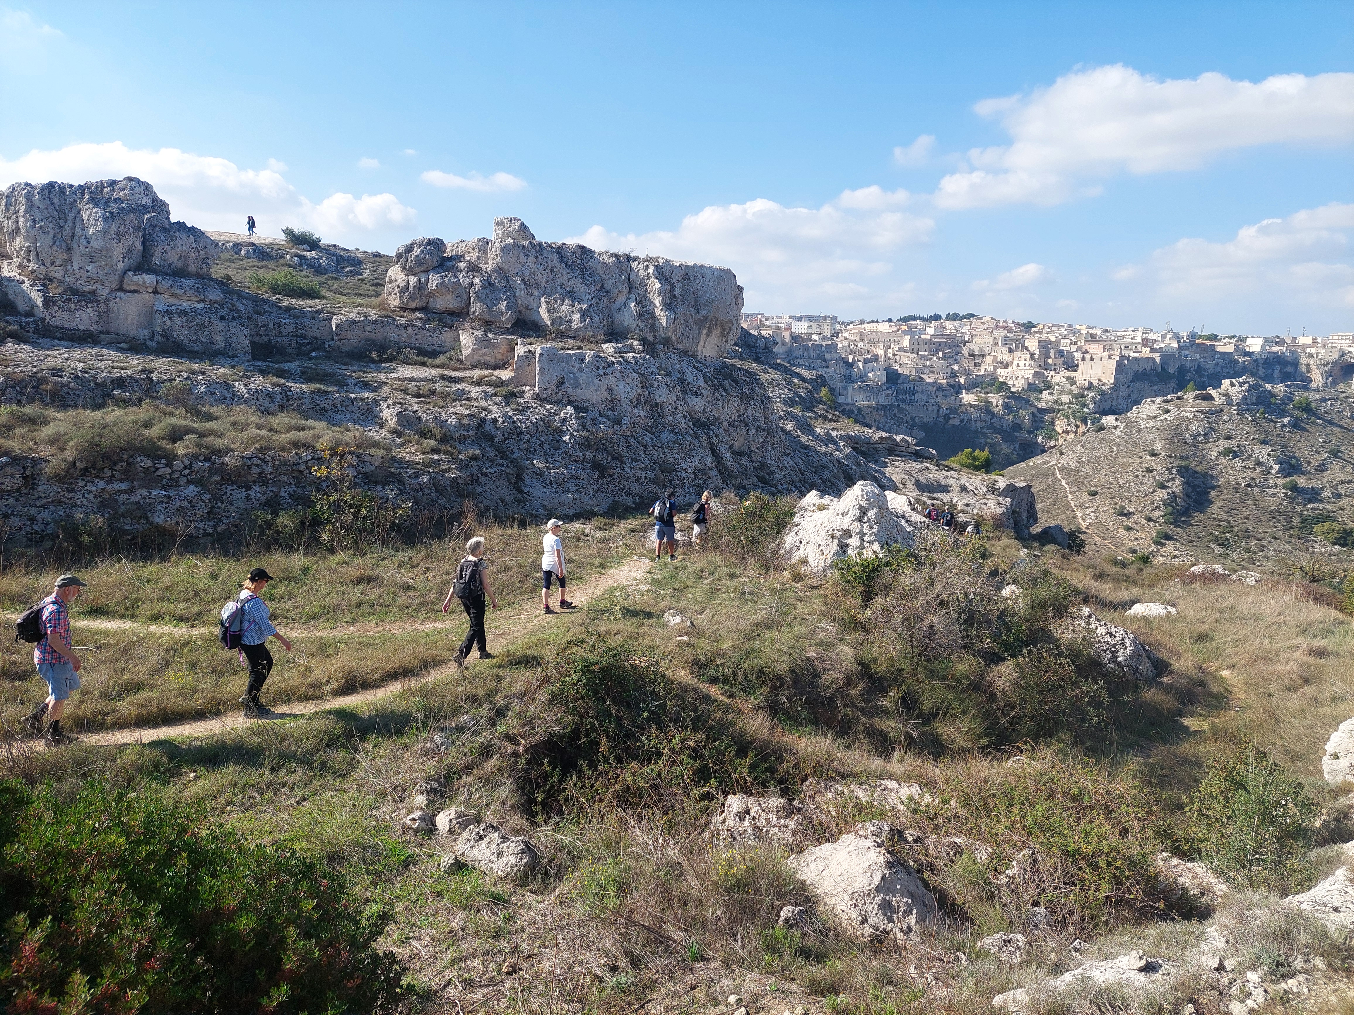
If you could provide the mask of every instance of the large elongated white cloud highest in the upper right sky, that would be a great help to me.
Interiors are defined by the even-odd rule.
[[[1118,172],[1197,169],[1257,145],[1349,143],[1354,73],[1162,81],[1118,64],[974,108],[999,118],[1011,143],[971,150],[968,165],[936,191],[944,208],[1056,204],[1094,194],[1094,181]]]

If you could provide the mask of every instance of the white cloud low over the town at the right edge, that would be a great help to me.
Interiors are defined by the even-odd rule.
[[[1154,252],[1143,276],[1160,296],[1190,303],[1262,300],[1294,307],[1354,309],[1354,204],[1324,204],[1243,226],[1232,240],[1186,238]]]

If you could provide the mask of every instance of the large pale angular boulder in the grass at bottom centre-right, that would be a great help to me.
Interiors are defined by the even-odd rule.
[[[787,863],[848,932],[865,939],[911,938],[936,919],[936,896],[890,851],[896,835],[884,821],[867,821]]]

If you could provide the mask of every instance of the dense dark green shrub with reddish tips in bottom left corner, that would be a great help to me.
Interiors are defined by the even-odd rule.
[[[27,1012],[393,1011],[385,919],[343,876],[153,792],[0,789],[0,996]]]

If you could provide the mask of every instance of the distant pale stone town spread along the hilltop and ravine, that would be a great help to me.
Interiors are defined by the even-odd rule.
[[[745,313],[757,355],[822,375],[825,399],[861,424],[938,451],[995,437],[1009,463],[1144,398],[1252,375],[1320,387],[1354,380],[1354,333],[1219,336],[1170,328],[909,314],[838,321]]]

